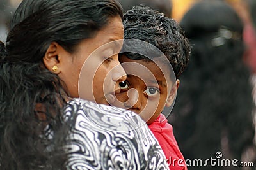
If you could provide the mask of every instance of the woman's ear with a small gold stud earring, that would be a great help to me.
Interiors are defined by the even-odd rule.
[[[55,74],[59,74],[61,72],[61,69],[59,66],[61,50],[62,50],[62,47],[58,43],[52,42],[51,45],[49,45],[43,58],[45,67],[49,71]]]

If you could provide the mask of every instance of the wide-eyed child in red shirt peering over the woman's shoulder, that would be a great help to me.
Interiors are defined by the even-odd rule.
[[[120,53],[119,60],[127,73],[127,80],[120,83],[122,92],[116,97],[124,102],[126,108],[140,114],[147,122],[163,148],[170,169],[187,169],[173,136],[172,125],[168,124],[161,112],[164,106],[171,106],[175,99],[179,80],[172,74],[174,71],[176,78],[179,78],[188,65],[191,50],[189,41],[175,20],[146,6],[136,6],[128,10],[123,23],[125,39],[140,39],[156,46],[172,67],[166,67],[168,64],[161,62],[157,55],[148,57],[132,52]],[[133,47],[149,49],[145,45],[140,46],[140,43]],[[166,71],[167,77],[164,76]]]

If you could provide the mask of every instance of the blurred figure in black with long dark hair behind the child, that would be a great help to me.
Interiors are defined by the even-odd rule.
[[[253,146],[252,86],[243,22],[224,1],[196,3],[180,25],[193,46],[169,122],[185,159],[237,159]],[[211,166],[188,169],[234,169]],[[241,169],[241,167],[236,167]]]

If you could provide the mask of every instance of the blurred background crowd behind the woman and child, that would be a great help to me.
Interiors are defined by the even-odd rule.
[[[172,17],[193,47],[168,117],[185,159],[254,162],[256,169],[256,0],[118,0],[124,10],[145,4]],[[203,2],[204,1],[204,2]],[[21,0],[0,0],[0,41]]]

